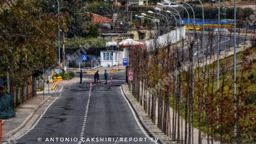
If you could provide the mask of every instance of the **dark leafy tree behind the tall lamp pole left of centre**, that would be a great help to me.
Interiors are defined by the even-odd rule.
[[[67,26],[67,37],[76,36],[90,37],[99,36],[99,25],[91,25],[91,14],[86,12],[82,0],[59,0],[60,15],[65,16]],[[43,0],[43,11],[57,14],[57,0]],[[66,31],[66,30],[65,30]]]

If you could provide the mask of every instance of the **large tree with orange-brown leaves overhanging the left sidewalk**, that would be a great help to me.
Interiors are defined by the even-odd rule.
[[[0,14],[0,76],[13,77],[18,86],[56,60],[50,43],[57,37],[57,17],[42,12],[41,6],[41,0],[18,0]]]

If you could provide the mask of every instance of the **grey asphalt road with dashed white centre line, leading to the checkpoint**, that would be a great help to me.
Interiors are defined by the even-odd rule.
[[[93,75],[85,75],[91,80],[64,86],[17,144],[154,144],[121,92],[124,76],[124,71],[109,74],[113,82],[90,88]]]

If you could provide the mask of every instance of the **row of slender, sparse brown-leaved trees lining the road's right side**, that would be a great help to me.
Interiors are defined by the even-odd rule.
[[[233,61],[220,60],[220,84],[217,89],[216,36],[209,33],[207,43],[202,46],[200,35],[186,37],[178,45],[167,43],[166,46],[152,44],[129,47],[129,67],[135,73],[133,96],[143,106],[152,123],[178,143],[194,144],[194,141],[198,141],[205,144],[202,136],[205,136],[208,144],[214,144],[214,139],[221,144],[255,142],[255,102],[245,103],[253,92],[250,85],[256,82],[255,50],[244,51],[237,61],[235,119]],[[201,68],[203,47],[206,48],[205,63],[209,63],[204,73]],[[233,132],[235,123],[238,126],[236,136]],[[199,130],[198,138],[193,136],[193,127]],[[202,131],[206,135],[202,135]]]

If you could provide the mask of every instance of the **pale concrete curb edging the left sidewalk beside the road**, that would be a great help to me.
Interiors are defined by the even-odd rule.
[[[10,137],[13,136],[14,134],[16,134],[21,128],[23,128],[23,127],[28,123],[28,121],[34,116],[34,114],[36,113],[36,111],[37,111],[39,108],[41,108],[41,106],[44,105],[50,98],[51,98],[51,96],[48,96],[46,99],[44,99],[42,102],[40,102],[40,103],[32,110],[32,112],[31,112],[31,114],[28,116],[28,118],[25,119],[25,120],[23,121],[23,123],[22,123],[19,127],[15,128],[14,130],[10,131],[9,133],[3,135],[3,138],[4,138],[5,140],[7,140],[8,138],[10,138]]]

